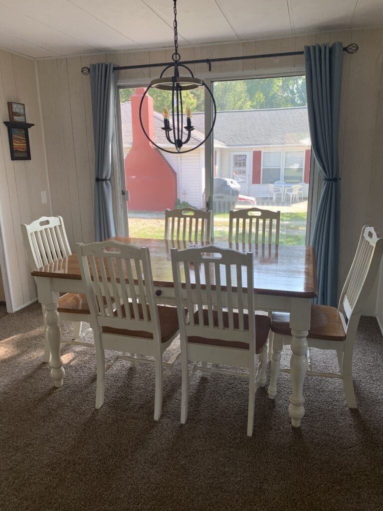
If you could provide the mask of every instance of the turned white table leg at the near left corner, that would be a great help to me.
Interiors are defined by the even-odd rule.
[[[57,312],[57,301],[52,304],[44,304],[46,338],[51,349],[51,378],[55,387],[61,387],[65,376],[65,369],[62,366],[60,357],[61,332],[59,327],[60,315]]]

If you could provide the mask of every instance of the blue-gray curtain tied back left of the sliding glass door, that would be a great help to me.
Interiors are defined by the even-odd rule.
[[[117,91],[113,64],[90,65],[90,91],[94,133],[94,238],[103,241],[116,235],[112,188],[112,138]]]

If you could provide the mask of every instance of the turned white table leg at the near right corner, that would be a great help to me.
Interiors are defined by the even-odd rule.
[[[290,328],[292,355],[290,372],[293,392],[290,396],[289,414],[292,426],[299,428],[304,415],[303,382],[307,370],[307,335],[310,325],[311,300],[296,299],[291,302]]]

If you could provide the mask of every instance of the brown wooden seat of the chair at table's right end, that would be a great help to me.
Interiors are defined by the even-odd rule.
[[[275,334],[291,336],[288,312],[273,312],[271,330]],[[308,339],[344,341],[346,333],[337,307],[327,305],[311,306],[311,322]]]

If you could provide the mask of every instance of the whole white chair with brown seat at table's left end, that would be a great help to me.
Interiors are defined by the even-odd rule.
[[[29,225],[21,224],[21,232],[31,271],[71,254],[62,217],[41,217]],[[94,347],[93,343],[83,340],[88,331],[81,334],[82,321],[89,322],[90,318],[85,294],[66,293],[60,296],[57,310],[60,319],[75,322],[73,338],[62,342]],[[42,313],[45,315],[44,306]],[[45,335],[43,361],[49,362],[50,359],[51,351]]]

